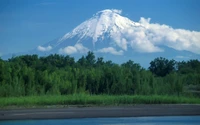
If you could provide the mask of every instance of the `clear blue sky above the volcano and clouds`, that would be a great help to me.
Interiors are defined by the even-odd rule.
[[[97,11],[121,9],[173,28],[200,31],[199,0],[1,0],[0,55],[31,50],[62,37]]]

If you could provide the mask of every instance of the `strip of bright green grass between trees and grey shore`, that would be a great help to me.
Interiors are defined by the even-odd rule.
[[[182,96],[141,95],[58,95],[0,98],[0,107],[31,107],[45,105],[123,105],[123,104],[200,104],[200,98]]]

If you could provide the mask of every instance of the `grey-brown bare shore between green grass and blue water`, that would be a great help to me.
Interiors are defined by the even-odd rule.
[[[185,115],[200,115],[200,105],[135,105],[0,110],[0,120]]]

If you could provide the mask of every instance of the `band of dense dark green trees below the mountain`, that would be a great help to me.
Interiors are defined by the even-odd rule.
[[[22,55],[0,59],[0,97],[46,95],[200,94],[200,61],[158,57],[145,69],[132,60],[122,64],[88,52],[75,61],[68,55]]]

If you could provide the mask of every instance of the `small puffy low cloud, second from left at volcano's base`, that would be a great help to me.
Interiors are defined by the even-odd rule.
[[[75,46],[67,46],[64,49],[60,49],[59,53],[61,54],[74,54],[74,53],[87,53],[89,51],[88,48],[84,47],[82,44],[76,44]]]

